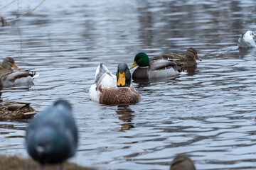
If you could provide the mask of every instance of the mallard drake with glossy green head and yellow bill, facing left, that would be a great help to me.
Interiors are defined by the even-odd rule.
[[[137,67],[132,74],[132,79],[134,80],[173,77],[181,72],[181,67],[169,60],[153,58],[151,61],[149,61],[149,56],[144,52],[139,52],[137,55],[135,55],[134,63],[131,67],[129,67],[129,69],[136,66],[139,67]]]

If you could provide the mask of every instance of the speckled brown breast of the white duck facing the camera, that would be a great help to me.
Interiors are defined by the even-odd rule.
[[[100,90],[100,89],[99,89]],[[131,85],[128,87],[119,87],[117,89],[105,89],[100,94],[101,104],[132,104],[141,99],[141,95]]]

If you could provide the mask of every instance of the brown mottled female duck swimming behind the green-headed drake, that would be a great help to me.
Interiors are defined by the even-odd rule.
[[[193,47],[189,47],[188,50],[186,50],[185,56],[174,55],[174,54],[164,54],[164,55],[161,55],[161,58],[164,60],[170,60],[172,62],[175,62],[185,70],[190,67],[196,67],[197,65],[196,60],[202,61],[198,57],[196,49]]]

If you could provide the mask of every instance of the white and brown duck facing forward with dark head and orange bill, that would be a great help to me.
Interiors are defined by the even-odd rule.
[[[118,64],[117,74],[110,73],[103,63],[96,69],[95,84],[89,89],[90,100],[102,104],[132,104],[141,99],[131,84],[131,73],[127,64]]]

